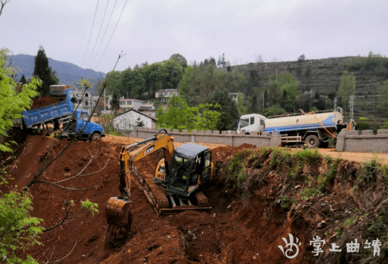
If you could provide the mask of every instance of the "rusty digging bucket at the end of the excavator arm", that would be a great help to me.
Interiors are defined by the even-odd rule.
[[[129,230],[132,222],[131,209],[132,203],[130,201],[118,197],[109,198],[105,207],[106,220],[109,226],[127,228]]]

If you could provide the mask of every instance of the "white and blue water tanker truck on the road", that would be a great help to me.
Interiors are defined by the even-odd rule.
[[[262,115],[243,115],[237,133],[277,133],[282,135],[282,144],[305,143],[307,147],[328,147],[328,140],[336,138],[343,122],[342,108],[320,112],[300,111],[301,114],[278,115],[268,118]]]

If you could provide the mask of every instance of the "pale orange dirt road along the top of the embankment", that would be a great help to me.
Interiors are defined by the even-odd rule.
[[[123,145],[130,145],[135,142],[138,142],[139,140],[142,140],[142,138],[125,138],[125,137],[118,137],[114,135],[106,135],[106,137],[103,139],[104,142],[111,142],[112,144],[123,144]],[[175,142],[175,147],[178,147],[179,145],[182,145],[183,143]],[[216,145],[216,144],[201,144],[209,147],[209,149],[214,149],[216,147],[220,147],[223,145]],[[302,149],[291,149],[291,151],[301,151]],[[349,161],[356,161],[359,163],[363,163],[365,161],[370,161],[373,158],[377,158],[377,160],[382,164],[388,164],[388,154],[373,154],[373,153],[363,153],[363,152],[336,152],[335,149],[319,149],[319,152],[323,154],[324,156],[330,155],[333,157],[333,159],[336,159],[340,157],[341,159],[347,159]]]

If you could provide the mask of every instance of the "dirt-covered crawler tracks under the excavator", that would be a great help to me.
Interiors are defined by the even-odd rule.
[[[156,211],[164,214],[176,214],[179,212],[194,210],[209,212],[212,207],[209,200],[202,191],[195,193],[195,197],[184,199],[167,193],[160,184],[154,182],[153,177],[148,175],[137,175],[144,194]]]

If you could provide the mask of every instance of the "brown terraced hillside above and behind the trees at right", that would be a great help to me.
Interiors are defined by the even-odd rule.
[[[247,81],[252,84],[252,92],[257,93],[265,86],[271,75],[282,71],[293,73],[302,89],[311,88],[312,92],[319,91],[321,95],[328,95],[337,91],[340,85],[342,71],[349,70],[349,59],[357,57],[340,57],[328,59],[311,59],[305,61],[282,61],[270,63],[251,63],[232,66],[244,73]],[[387,74],[376,74],[364,68],[349,71],[356,78],[356,96],[354,98],[354,117],[368,117],[380,119],[386,117],[378,108],[377,89],[386,80]]]

